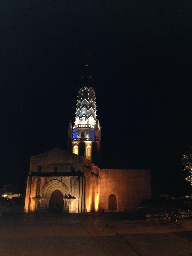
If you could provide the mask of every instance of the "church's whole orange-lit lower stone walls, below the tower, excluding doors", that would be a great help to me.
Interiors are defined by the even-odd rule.
[[[56,190],[62,193],[62,212],[111,211],[111,194],[116,196],[115,211],[135,211],[142,199],[151,196],[150,170],[100,169],[59,148],[32,156],[25,212],[49,212]]]

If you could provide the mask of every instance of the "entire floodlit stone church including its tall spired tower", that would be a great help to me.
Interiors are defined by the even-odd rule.
[[[136,211],[151,197],[150,170],[100,166],[101,125],[90,66],[87,61],[81,77],[68,151],[54,148],[31,157],[25,212]]]

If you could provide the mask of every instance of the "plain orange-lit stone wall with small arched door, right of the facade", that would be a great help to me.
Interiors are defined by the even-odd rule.
[[[136,211],[140,201],[151,197],[150,170],[101,169],[100,210],[109,211],[109,196],[116,195],[117,211]]]

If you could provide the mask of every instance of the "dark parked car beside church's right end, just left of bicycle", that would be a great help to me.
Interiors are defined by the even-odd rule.
[[[162,200],[158,200],[158,199],[144,199],[140,202],[140,204],[138,205],[137,208],[137,212],[139,214],[156,214],[159,212],[159,209],[161,208],[161,205],[164,202]]]

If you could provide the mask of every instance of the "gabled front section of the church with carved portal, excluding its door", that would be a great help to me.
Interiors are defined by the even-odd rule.
[[[94,190],[99,184],[98,174],[94,171],[94,165],[84,157],[59,148],[32,156],[25,212],[49,212],[50,198],[55,190],[62,193],[63,212],[86,212],[87,207],[88,212],[92,211]]]

